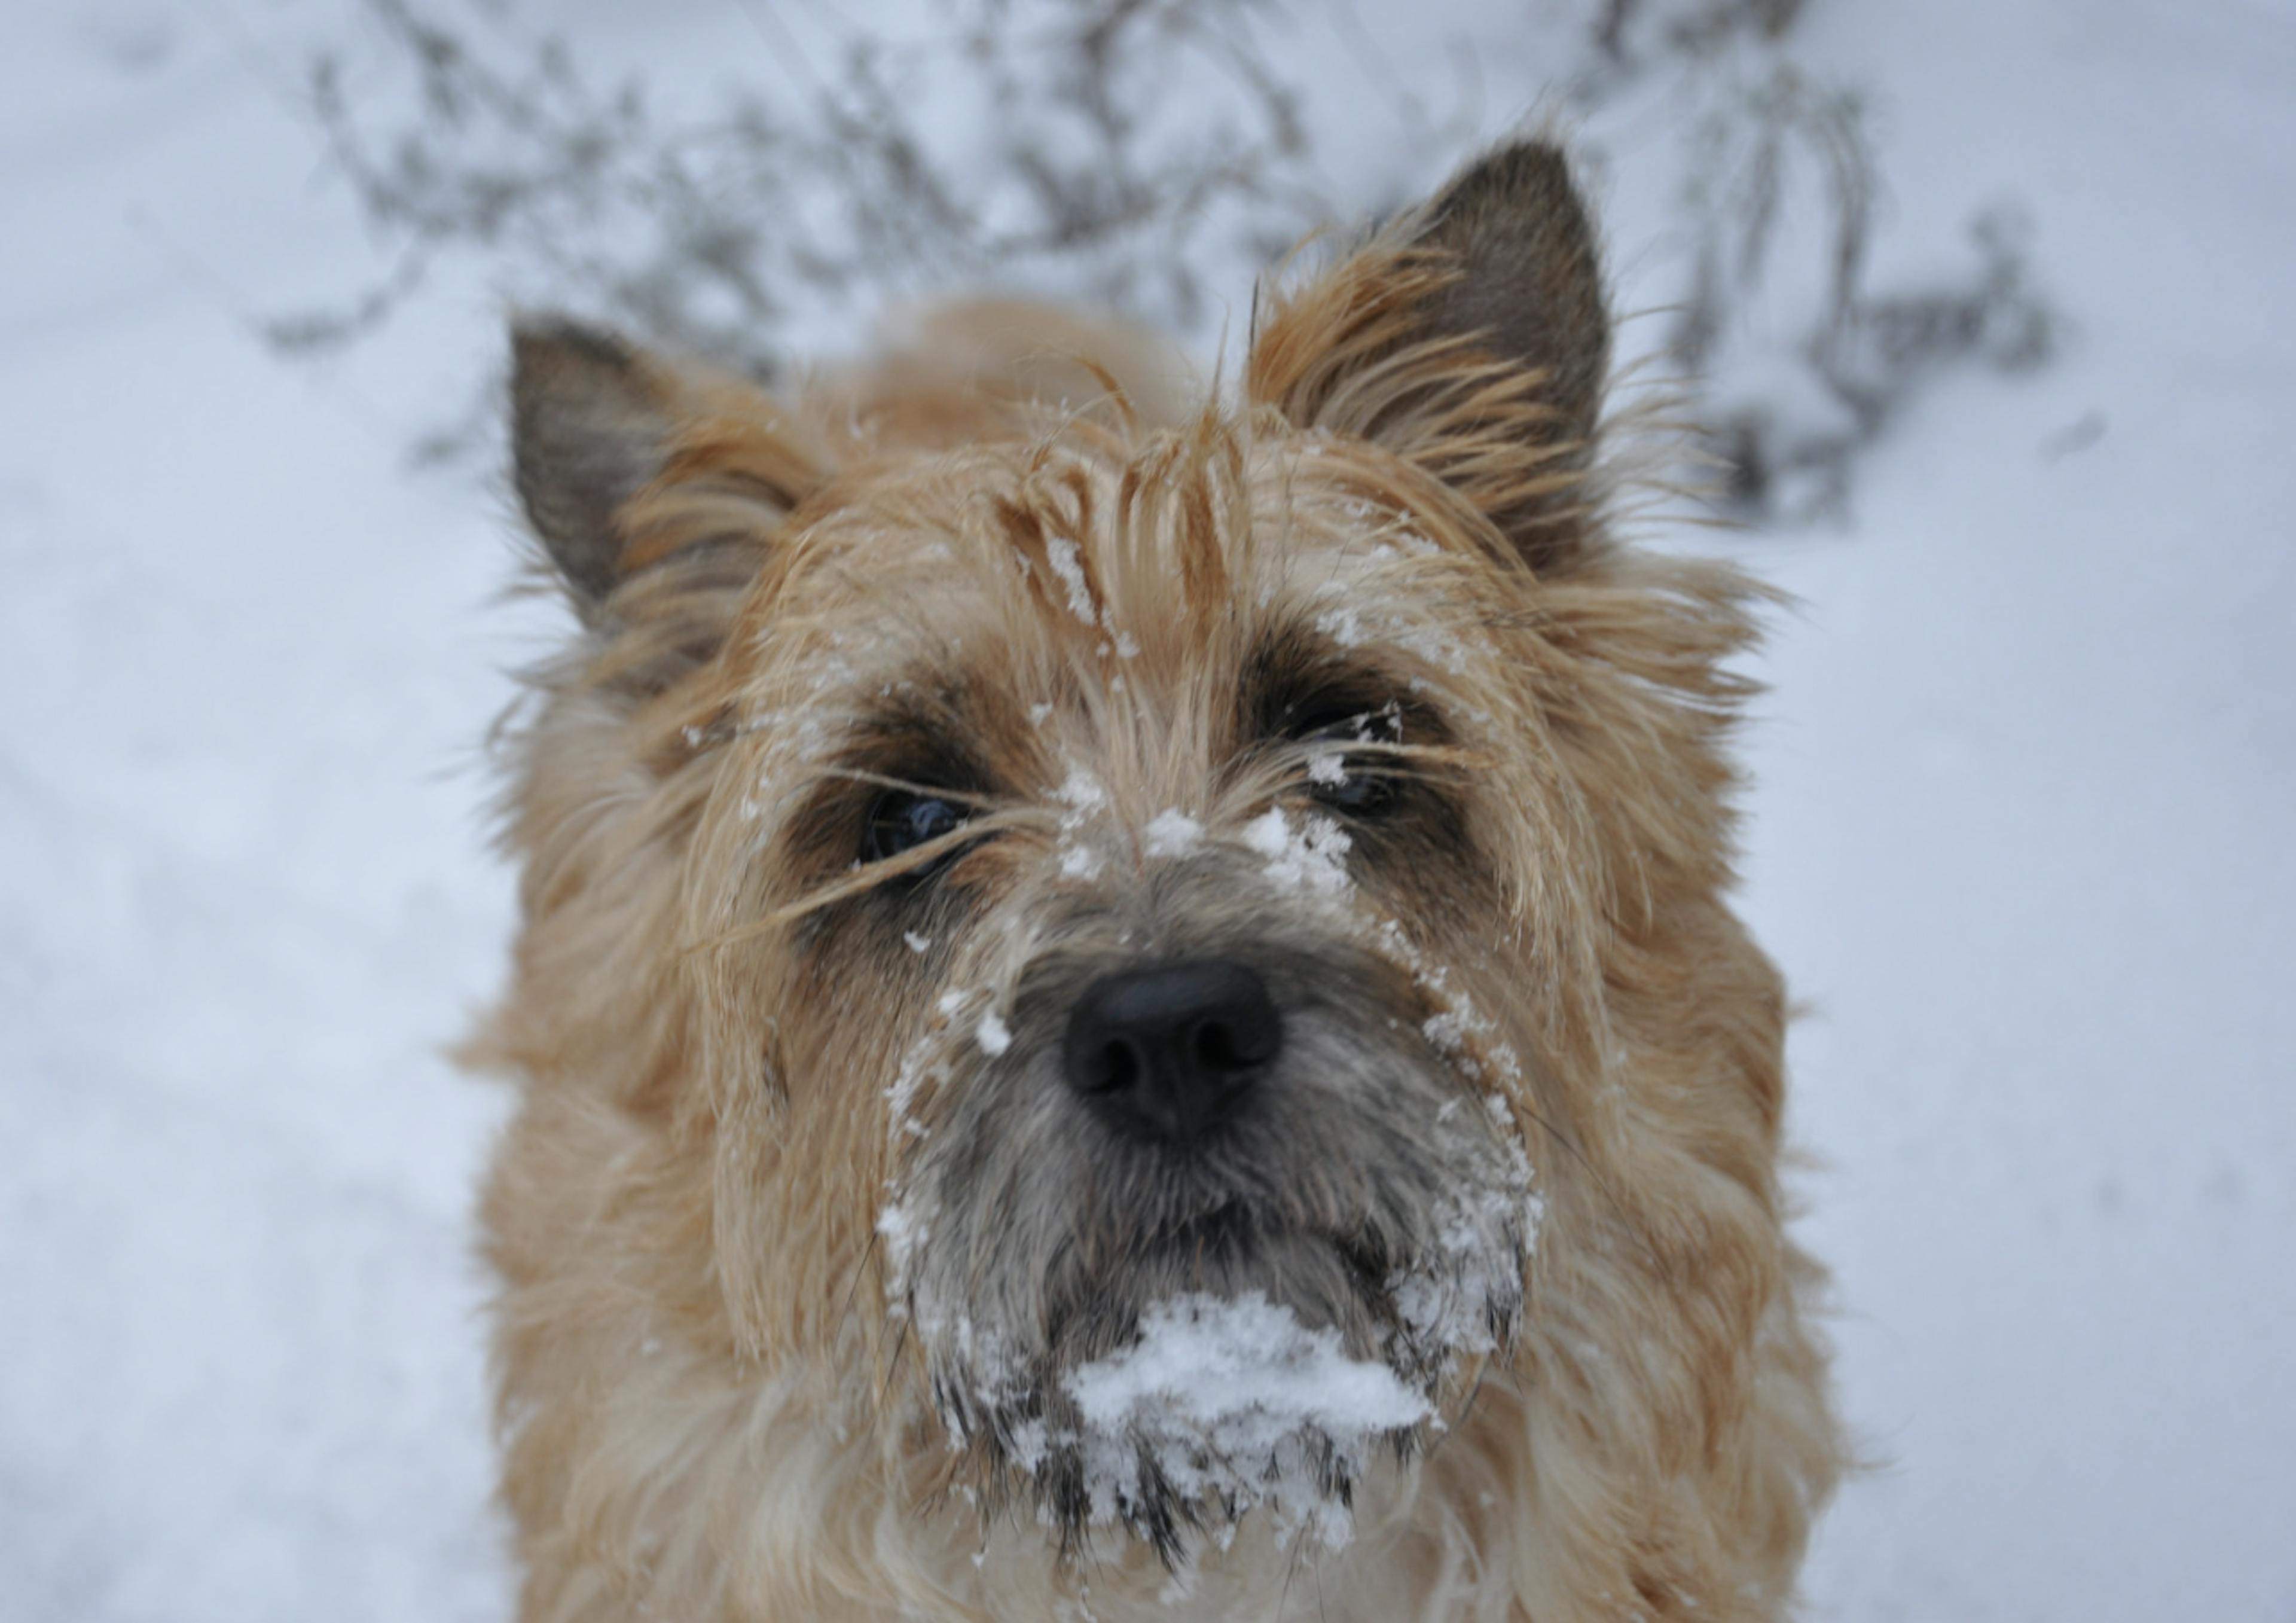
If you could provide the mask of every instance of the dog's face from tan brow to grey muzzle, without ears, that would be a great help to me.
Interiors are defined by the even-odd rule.
[[[1525,859],[1564,856],[1492,739],[1518,604],[1440,491],[1194,434],[840,494],[744,615],[700,831],[739,888],[693,921],[723,1026],[776,1033],[753,1086],[822,1118],[762,1226],[859,1201],[951,1435],[1159,1540],[1212,1506],[1157,1449],[1111,1481],[1077,1410],[1150,1309],[1258,1292],[1403,1405],[1508,1336]]]

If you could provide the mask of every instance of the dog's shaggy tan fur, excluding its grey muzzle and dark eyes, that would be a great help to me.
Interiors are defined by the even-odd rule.
[[[1839,1442],[1777,1180],[1782,989],[1724,904],[1756,592],[1605,528],[1559,174],[1497,154],[1277,298],[1233,404],[1013,305],[794,399],[523,328],[519,484],[585,622],[510,732],[523,930],[473,1045],[521,1084],[484,1233],[528,1623],[1789,1609]],[[1444,719],[1396,771],[1451,833],[1359,831],[1339,900],[1240,856],[1309,803],[1302,746],[1238,719],[1270,645]],[[870,753],[889,693],[987,787],[856,863],[905,760]],[[1391,964],[1543,1203],[1511,1343],[1355,1485],[1352,1540],[1247,1513],[1176,1570],[1123,1529],[1063,1552],[955,1446],[879,1235],[980,1012],[1157,918],[1169,808],[1233,875],[1173,902],[1189,927]],[[912,930],[868,911],[934,859]]]

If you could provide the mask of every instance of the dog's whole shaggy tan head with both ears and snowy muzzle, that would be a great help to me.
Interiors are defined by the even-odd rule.
[[[1649,1283],[1708,1182],[1770,1217],[1775,1056],[1711,1058],[1775,1045],[1715,904],[1743,588],[1603,526],[1552,149],[1277,301],[1240,404],[1045,342],[1006,372],[1068,399],[925,354],[776,404],[521,331],[588,627],[517,803],[528,1065],[659,1123],[689,1331],[850,1364],[948,1485],[1334,1533],[1518,1338],[1752,1334]]]

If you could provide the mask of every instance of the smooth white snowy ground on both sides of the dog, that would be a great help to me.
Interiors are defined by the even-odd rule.
[[[755,48],[696,16],[673,57]],[[507,1616],[503,1102],[441,1049],[510,921],[475,744],[544,624],[491,601],[501,507],[397,461],[489,301],[326,370],[248,335],[370,264],[294,21],[16,0],[0,57],[9,1621]],[[1745,542],[1802,597],[1747,909],[1814,1005],[1805,1230],[1885,1462],[1814,1614],[2289,1623],[2296,9],[1805,30],[1880,90],[1885,255],[2023,197],[2073,319],[1926,397],[1851,528]]]

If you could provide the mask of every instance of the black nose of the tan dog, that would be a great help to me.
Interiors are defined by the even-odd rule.
[[[1235,1116],[1281,1047],[1267,983],[1205,957],[1088,985],[1068,1015],[1061,1065],[1118,1132],[1182,1143]]]

